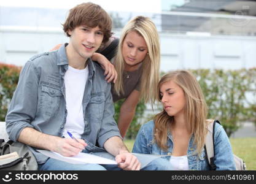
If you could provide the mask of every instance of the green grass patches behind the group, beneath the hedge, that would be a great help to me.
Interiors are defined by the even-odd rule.
[[[256,171],[256,137],[230,138],[233,153],[246,163],[246,170]],[[134,140],[125,140],[128,150],[132,150]]]

